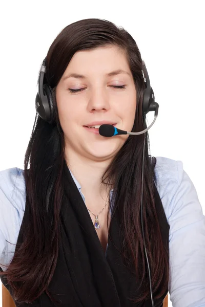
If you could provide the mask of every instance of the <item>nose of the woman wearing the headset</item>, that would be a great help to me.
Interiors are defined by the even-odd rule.
[[[108,95],[103,88],[93,89],[88,101],[89,112],[106,112],[110,109]]]

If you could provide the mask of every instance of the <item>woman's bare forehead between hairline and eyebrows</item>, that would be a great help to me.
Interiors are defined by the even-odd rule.
[[[70,77],[87,78],[91,75],[106,77],[127,72],[131,76],[125,51],[117,46],[98,47],[94,50],[76,52],[70,60],[62,79]]]

